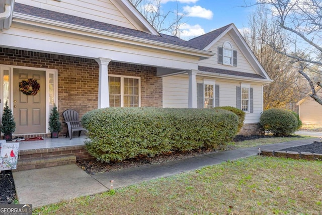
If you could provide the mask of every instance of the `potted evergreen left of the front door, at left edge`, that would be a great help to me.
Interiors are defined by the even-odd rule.
[[[4,133],[4,138],[6,141],[12,140],[12,134],[16,130],[16,122],[11,109],[8,106],[8,101],[6,101],[4,113],[1,119],[1,131]]]

